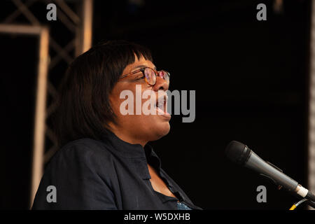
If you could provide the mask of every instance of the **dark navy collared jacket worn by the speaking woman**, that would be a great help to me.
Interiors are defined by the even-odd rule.
[[[161,169],[151,146],[129,144],[113,133],[102,141],[71,141],[57,151],[45,169],[32,209],[177,209],[175,197],[153,190],[147,162],[180,202],[201,209]],[[48,186],[55,186],[56,202],[51,202]]]

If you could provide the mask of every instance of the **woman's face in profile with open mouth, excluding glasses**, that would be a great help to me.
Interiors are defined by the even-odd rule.
[[[123,74],[121,76],[125,76],[128,73],[131,73],[132,71],[137,71],[144,67],[150,67],[152,69],[156,69],[155,65],[146,59],[144,57],[135,59],[135,62],[133,64],[129,64],[125,67]],[[155,141],[157,139],[160,139],[161,137],[165,136],[169,132],[169,120],[171,119],[171,116],[169,113],[166,113],[166,90],[168,90],[169,85],[166,83],[166,81],[157,76],[155,85],[149,85],[146,83],[144,78],[140,78],[143,76],[143,73],[139,71],[138,73],[134,73],[130,76],[127,76],[125,78],[122,78],[119,80],[118,83],[113,87],[113,90],[110,94],[110,102],[113,109],[113,112],[116,114],[116,123],[117,125],[111,124],[112,131],[120,137],[120,139],[123,139],[124,141],[128,141],[132,144],[141,144],[145,145],[148,141]],[[139,79],[140,78],[140,79]],[[154,96],[148,96],[147,99],[139,99],[139,97],[136,97],[136,85],[137,85],[137,93],[138,96],[142,96],[142,93],[144,91],[151,90],[151,94]],[[139,91],[141,87],[141,92]],[[123,92],[123,90],[130,90],[133,93],[133,113],[132,114],[126,114],[123,115],[120,111],[120,105],[126,101],[126,98],[120,99],[120,93]],[[162,90],[162,91],[161,91]],[[156,114],[144,114],[144,112],[141,110],[141,114],[136,114],[136,107],[137,102],[139,105],[144,105],[145,102],[148,100],[154,99],[156,101],[156,104],[158,102],[162,103],[164,102],[161,100],[161,96],[163,99],[165,99],[165,105],[164,107],[158,105],[158,107],[162,108],[164,113],[161,113],[159,111],[158,107],[151,107],[148,106],[148,109],[151,109],[151,111],[155,110]],[[165,97],[164,97],[165,96]],[[159,98],[160,97],[160,100]],[[137,99],[139,99],[137,101]],[[132,101],[129,101],[132,102]],[[126,105],[126,104],[123,104]],[[139,106],[138,105],[138,106]],[[146,103],[148,105],[148,102]],[[163,109],[164,108],[164,109]],[[123,106],[123,109],[128,109],[128,106]]]

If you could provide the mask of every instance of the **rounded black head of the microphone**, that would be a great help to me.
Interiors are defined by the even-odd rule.
[[[239,141],[231,141],[225,148],[225,155],[238,165],[245,165],[250,154],[251,150]]]

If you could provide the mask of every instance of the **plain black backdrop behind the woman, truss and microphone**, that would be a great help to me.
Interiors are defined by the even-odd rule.
[[[274,1],[143,2],[95,0],[93,43],[146,45],[172,74],[170,90],[196,91],[195,121],[172,116],[170,133],[152,143],[162,168],[204,209],[289,209],[295,197],[232,164],[224,150],[241,141],[306,186],[310,1],[284,1],[282,13]],[[1,3],[3,13],[14,8]],[[267,21],[256,20],[258,3]],[[34,7],[45,18],[45,6]],[[1,208],[28,209],[38,40],[0,38]],[[52,71],[53,82],[65,68]],[[260,185],[267,203],[256,201]]]

